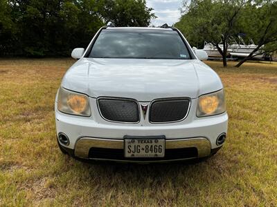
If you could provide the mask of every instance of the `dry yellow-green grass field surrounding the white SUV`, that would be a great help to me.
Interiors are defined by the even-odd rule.
[[[197,164],[62,155],[54,99],[72,59],[0,59],[0,206],[277,206],[277,63],[222,68],[229,135]]]

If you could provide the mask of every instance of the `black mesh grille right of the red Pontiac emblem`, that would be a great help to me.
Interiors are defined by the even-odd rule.
[[[188,99],[170,99],[154,101],[150,108],[151,122],[179,121],[186,117],[190,100]]]

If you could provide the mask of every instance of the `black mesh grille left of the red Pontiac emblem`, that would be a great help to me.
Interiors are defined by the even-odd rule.
[[[99,99],[102,117],[110,121],[138,122],[139,107],[135,101],[120,99]]]

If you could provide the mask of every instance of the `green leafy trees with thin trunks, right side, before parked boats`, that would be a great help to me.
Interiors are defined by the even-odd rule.
[[[258,45],[249,57],[263,47],[264,52],[277,50],[277,1],[275,0],[185,0],[183,14],[175,24],[192,45],[213,43],[226,66],[226,50],[231,37],[246,34]],[[222,43],[223,48],[219,47]]]

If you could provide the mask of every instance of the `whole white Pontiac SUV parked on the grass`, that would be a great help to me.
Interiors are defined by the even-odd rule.
[[[208,157],[226,139],[220,77],[176,28],[100,28],[55,100],[64,153],[158,162]]]

